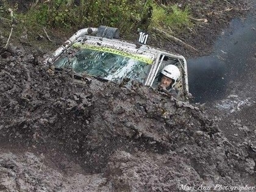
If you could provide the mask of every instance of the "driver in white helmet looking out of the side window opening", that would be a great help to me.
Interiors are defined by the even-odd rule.
[[[177,83],[179,77],[180,70],[176,65],[166,65],[160,73],[159,90],[167,91],[171,96],[177,98],[178,91],[174,88],[174,85]]]

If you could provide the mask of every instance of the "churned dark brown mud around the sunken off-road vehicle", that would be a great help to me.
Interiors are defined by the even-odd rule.
[[[160,41],[188,58],[254,11],[251,1],[186,3],[208,20],[179,37],[200,52]],[[201,105],[140,84],[76,84],[43,65],[50,51],[17,39],[0,56],[0,191],[256,191],[255,55],[229,98]]]

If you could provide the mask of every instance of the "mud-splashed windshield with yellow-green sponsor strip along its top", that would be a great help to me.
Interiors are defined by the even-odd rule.
[[[63,54],[55,63],[57,68],[72,68],[76,73],[102,77],[120,82],[124,77],[144,82],[152,59],[145,55],[130,54],[99,46],[79,46]]]

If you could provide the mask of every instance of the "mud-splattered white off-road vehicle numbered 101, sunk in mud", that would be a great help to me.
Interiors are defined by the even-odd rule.
[[[180,69],[175,88],[179,98],[188,98],[187,62],[182,55],[146,45],[148,34],[140,33],[137,44],[121,41],[118,29],[100,26],[81,29],[46,62],[55,69],[71,68],[79,76],[99,77],[117,83],[136,80],[157,88],[162,69],[169,64]]]

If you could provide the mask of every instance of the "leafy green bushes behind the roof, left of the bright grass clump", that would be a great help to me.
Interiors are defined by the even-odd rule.
[[[143,9],[138,0],[80,0],[79,4],[73,0],[52,0],[32,6],[29,12],[19,17],[30,25],[54,28],[80,29],[105,25],[127,30],[127,27],[132,26],[130,16],[143,12]]]

